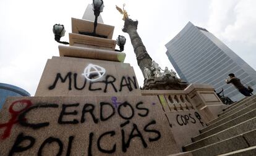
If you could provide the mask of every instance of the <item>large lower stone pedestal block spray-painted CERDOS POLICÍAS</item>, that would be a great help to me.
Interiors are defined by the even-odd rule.
[[[13,97],[14,118],[0,155],[169,155],[179,152],[156,97]],[[3,133],[1,129],[1,134]]]

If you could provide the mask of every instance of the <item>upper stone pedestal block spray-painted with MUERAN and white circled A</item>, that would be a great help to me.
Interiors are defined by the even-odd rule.
[[[49,59],[35,93],[35,96],[112,95],[140,95],[134,69],[129,64],[72,57]]]

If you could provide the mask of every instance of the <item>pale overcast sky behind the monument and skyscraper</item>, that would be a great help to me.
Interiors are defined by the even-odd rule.
[[[1,0],[0,83],[19,86],[34,96],[47,59],[59,56],[53,25],[64,25],[66,35],[61,41],[69,41],[71,17],[82,18],[88,4],[92,0]],[[213,33],[256,69],[255,0],[105,0],[104,4],[101,17],[115,27],[113,39],[118,35],[127,38],[124,62],[134,67],[140,86],[143,75],[129,35],[122,32],[124,21],[116,5],[126,4],[129,18],[139,21],[140,38],[161,68],[173,68],[164,45],[190,21]]]

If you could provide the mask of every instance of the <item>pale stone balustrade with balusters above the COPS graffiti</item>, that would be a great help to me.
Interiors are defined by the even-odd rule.
[[[226,107],[208,84],[190,84],[184,90],[142,90],[142,95],[158,96],[164,112],[198,110],[205,121]]]

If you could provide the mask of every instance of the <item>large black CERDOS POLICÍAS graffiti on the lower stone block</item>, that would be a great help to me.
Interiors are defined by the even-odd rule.
[[[114,154],[119,150],[126,153],[131,144],[134,144],[134,141],[139,142],[139,144],[136,144],[137,146],[147,148],[150,142],[161,139],[161,129],[158,129],[158,121],[149,117],[151,114],[149,107],[156,107],[156,104],[154,102],[147,104],[140,100],[122,101],[122,99],[115,96],[109,97],[108,101],[99,101],[98,103],[74,102],[73,104],[65,102],[63,104],[51,102],[35,102],[32,104],[31,101],[24,99],[15,101],[10,105],[11,119],[7,123],[1,124],[1,128],[6,128],[1,136],[2,139],[14,138],[12,139],[14,142],[11,143],[11,148],[7,151],[8,155],[31,152],[32,149],[34,153],[36,150],[37,155],[44,155],[43,153],[48,150],[50,144],[58,147],[54,148],[54,155],[70,155],[75,141],[79,139],[74,133],[70,133],[69,137],[64,139],[53,136],[49,130],[48,137],[38,142],[36,132],[39,133],[40,131],[41,133],[42,129],[47,131],[47,128],[54,124],[59,126],[89,123],[98,125],[111,121],[113,118],[119,118],[119,124],[112,125],[113,128],[110,130],[103,129],[98,133],[98,131],[90,131],[89,129],[89,133],[84,134],[88,136],[88,140],[84,140],[83,144],[86,147],[87,151],[85,153],[87,155],[93,155],[95,151],[103,154]],[[58,118],[55,119],[55,122],[48,120],[48,118],[43,118],[43,120],[32,120],[30,118],[31,114],[41,110],[59,112]],[[96,110],[99,110],[99,112],[96,113]],[[140,118],[147,120],[145,120],[145,123],[137,123]],[[12,128],[28,128],[30,132],[35,132],[30,134],[29,131],[18,131],[19,133],[15,134],[11,132]],[[103,140],[106,140],[106,138],[114,138],[111,139],[113,142],[109,142],[108,147],[103,144]],[[93,144],[96,144],[96,146],[93,146]]]

